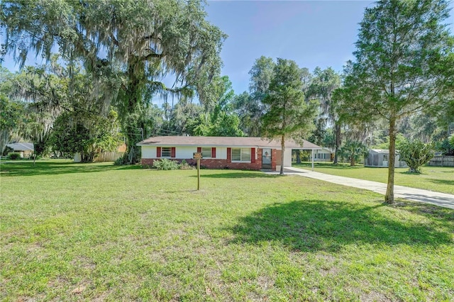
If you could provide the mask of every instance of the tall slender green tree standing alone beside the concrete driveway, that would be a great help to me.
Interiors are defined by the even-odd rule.
[[[343,118],[383,118],[389,130],[385,202],[394,202],[397,122],[443,101],[453,83],[453,53],[444,0],[378,1],[365,10],[353,66],[345,79]]]

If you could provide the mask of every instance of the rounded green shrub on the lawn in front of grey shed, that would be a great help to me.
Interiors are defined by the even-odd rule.
[[[420,167],[433,157],[433,147],[421,140],[405,140],[399,146],[400,160],[409,166],[409,172],[421,173]]]

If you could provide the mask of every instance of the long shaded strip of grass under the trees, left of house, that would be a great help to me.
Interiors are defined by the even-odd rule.
[[[1,177],[55,175],[87,172],[106,172],[122,169],[140,169],[140,165],[114,166],[108,162],[74,163],[64,160],[33,162],[4,162],[0,165]]]

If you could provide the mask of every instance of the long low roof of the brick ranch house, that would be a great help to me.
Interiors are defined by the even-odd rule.
[[[260,147],[280,149],[280,140],[267,140],[265,138],[237,138],[221,136],[155,136],[138,142],[138,146],[197,146],[197,147]],[[303,140],[303,145],[294,140],[286,140],[285,147],[292,149],[321,149],[312,142]]]

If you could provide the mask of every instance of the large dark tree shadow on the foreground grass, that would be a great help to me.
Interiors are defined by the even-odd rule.
[[[336,252],[357,242],[387,245],[453,244],[452,235],[431,225],[383,216],[381,208],[301,200],[276,203],[241,218],[233,242],[279,241],[293,250]],[[448,213],[453,213],[451,210]],[[430,215],[425,213],[423,215]],[[443,222],[448,223],[448,222]]]

